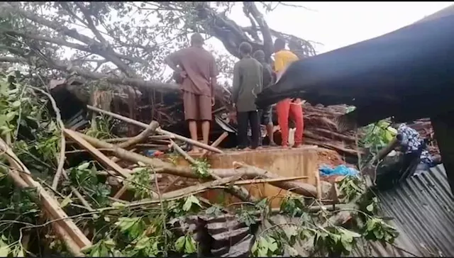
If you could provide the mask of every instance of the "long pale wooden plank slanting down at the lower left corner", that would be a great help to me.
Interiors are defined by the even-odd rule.
[[[76,243],[77,247],[79,247],[76,249],[76,247],[74,247],[72,243],[67,242],[67,246],[70,251],[74,255],[79,255],[80,249],[91,246],[92,242],[90,242],[84,235],[84,233],[82,233],[82,231],[77,227],[77,225],[75,225],[74,222],[70,218],[68,218],[68,215],[65,213],[65,211],[60,208],[60,203],[52,198],[52,196],[50,196],[50,194],[45,191],[43,186],[41,186],[37,181],[33,180],[33,178],[31,177],[31,172],[2,139],[0,139],[0,149],[4,152],[4,154],[6,154],[11,167],[17,169],[17,171],[20,172],[16,173],[21,177],[21,179],[23,179],[23,181],[18,180],[18,184],[23,185],[23,182],[25,182],[28,186],[36,188],[45,211],[48,212],[52,220],[58,220],[55,221],[55,224],[60,225],[62,227],[62,230],[58,230],[56,228],[55,231],[60,235],[60,237],[62,237],[62,240],[67,240],[66,235],[69,235],[70,238]],[[14,174],[12,175],[14,176]],[[54,223],[52,223],[52,225],[53,224]]]

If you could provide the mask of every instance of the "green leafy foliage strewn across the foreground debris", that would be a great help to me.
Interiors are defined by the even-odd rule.
[[[241,177],[207,181],[213,177],[214,170],[202,159],[195,160],[192,167],[187,168],[189,170],[184,170],[170,163],[159,163],[155,159],[140,156],[143,157],[143,162],[129,162],[125,165],[129,166],[127,171],[131,176],[124,178],[112,170],[121,172],[126,169],[112,165],[109,167],[106,165],[109,162],[96,161],[99,160],[99,155],[93,154],[96,160],[89,155],[79,154],[82,155],[79,159],[67,155],[67,176],[63,176],[54,189],[51,184],[62,147],[61,130],[57,126],[59,121],[55,118],[55,111],[52,111],[50,99],[41,93],[47,91],[45,86],[31,86],[29,78],[17,72],[1,74],[1,138],[8,142],[18,159],[30,170],[33,179],[57,200],[59,207],[92,243],[80,250],[82,254],[91,257],[164,257],[200,253],[203,248],[208,248],[211,252],[209,244],[201,240],[206,235],[204,230],[197,227],[177,230],[172,224],[173,220],[190,218],[192,215],[209,218],[233,215],[238,223],[249,228],[248,234],[255,235],[252,249],[247,252],[258,257],[301,254],[295,247],[296,243],[301,242],[311,243],[311,252],[347,254],[361,237],[389,243],[397,237],[394,228],[375,215],[377,199],[367,194],[358,179],[344,179],[339,186],[343,202],[354,204],[350,208],[328,211],[314,198],[311,198],[313,203],[308,203],[307,198],[294,194],[287,196],[277,212],[288,218],[298,218],[298,223],[292,223],[292,230],[284,229],[283,225],[258,230],[258,225],[265,225],[265,221],[272,221],[275,216],[273,214],[276,211],[270,208],[267,198],[248,200],[245,202],[249,203],[247,208],[238,209],[236,206],[212,204],[198,196],[215,186],[232,189],[231,184]],[[109,119],[96,120],[97,126],[89,128],[86,134],[97,138],[115,137],[107,130],[110,128],[109,123]],[[68,141],[67,146],[74,147]],[[127,155],[122,157],[126,159]],[[17,182],[11,177],[11,169],[16,169],[11,167],[11,157],[2,155],[1,158],[0,255],[72,255],[67,241],[55,232],[56,222],[46,217],[37,189],[16,186]],[[160,165],[153,165],[150,163],[152,161]],[[194,186],[167,191],[169,180],[163,176],[162,169],[167,169],[165,171],[170,174],[177,170],[180,176],[187,173],[192,179],[199,178],[206,182],[199,181]],[[118,184],[118,179],[121,184]],[[117,181],[117,184],[112,184],[111,181]],[[122,185],[126,188],[126,194],[114,196],[121,191],[118,188]],[[314,212],[314,207],[319,207],[319,210]],[[353,226],[330,222],[333,217],[345,211],[356,214],[353,216],[356,221]],[[204,247],[201,247],[202,244]]]

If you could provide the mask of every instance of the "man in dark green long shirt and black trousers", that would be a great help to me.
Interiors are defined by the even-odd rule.
[[[239,50],[241,60],[233,67],[232,92],[238,121],[238,148],[244,149],[249,146],[248,125],[250,124],[252,133],[250,147],[255,149],[258,147],[260,138],[260,117],[255,99],[262,91],[263,67],[250,56],[253,47],[249,43],[241,43]]]

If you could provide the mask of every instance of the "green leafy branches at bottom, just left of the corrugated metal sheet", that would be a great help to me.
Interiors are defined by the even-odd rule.
[[[316,201],[308,201],[300,197],[287,196],[279,208],[279,213],[289,215],[284,223],[276,223],[272,218],[271,225],[260,232],[251,250],[255,257],[272,255],[284,256],[340,256],[352,252],[360,239],[370,242],[394,245],[399,233],[376,215],[378,200],[366,194],[365,185],[353,177],[345,177],[338,182],[342,201],[355,206],[328,211],[321,208],[311,212]],[[333,223],[333,216],[342,212],[350,212],[350,223],[338,225]]]

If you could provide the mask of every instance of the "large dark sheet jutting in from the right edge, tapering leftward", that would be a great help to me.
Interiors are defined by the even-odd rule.
[[[454,15],[423,20],[294,62],[258,95],[258,105],[297,96],[314,104],[346,103],[357,107],[349,122],[360,126],[453,109]]]

